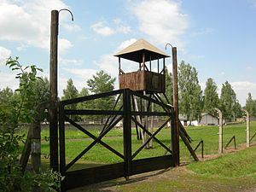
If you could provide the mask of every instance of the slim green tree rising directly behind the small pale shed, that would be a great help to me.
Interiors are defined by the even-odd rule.
[[[207,79],[206,89],[204,90],[203,112],[216,114],[214,108],[218,108],[217,84],[212,78]]]

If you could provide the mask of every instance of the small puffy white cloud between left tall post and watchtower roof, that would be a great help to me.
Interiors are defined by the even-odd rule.
[[[120,20],[119,18],[113,20],[113,24],[115,27],[107,26],[106,22],[99,21],[90,26],[94,32],[97,34],[103,35],[103,36],[109,36],[113,35],[115,33],[124,33],[127,34],[131,32],[131,27],[130,26],[125,26],[123,24],[123,21]]]

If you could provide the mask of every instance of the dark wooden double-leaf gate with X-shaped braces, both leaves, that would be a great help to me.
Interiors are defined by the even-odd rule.
[[[78,104],[80,102],[88,102],[96,99],[102,99],[111,96],[115,101],[113,108],[111,110],[100,110],[100,109],[67,109],[67,106]],[[160,112],[152,112],[150,110],[143,111],[140,108],[139,111],[135,110],[134,97],[140,98],[141,100],[148,102],[148,108],[150,103],[159,106],[161,108]],[[121,104],[120,104],[121,103]],[[66,107],[66,108],[65,108]],[[170,105],[162,102],[160,96],[150,95],[143,96],[140,93],[135,91],[125,89],[125,90],[114,90],[112,92],[93,95],[93,96],[84,96],[71,100],[66,100],[60,102],[59,106],[59,144],[60,144],[60,172],[64,176],[63,181],[61,182],[61,190],[73,189],[90,183],[98,183],[118,177],[129,177],[134,174],[151,172],[154,170],[159,170],[172,166],[172,150],[171,146],[171,129],[170,129],[170,138],[168,144],[161,142],[156,135],[168,124],[171,123],[173,108]],[[73,115],[104,115],[107,117],[107,120],[102,128],[101,133],[98,137],[91,134],[90,131],[84,129],[82,125],[79,125],[72,119]],[[142,121],[137,120],[137,115],[142,117],[149,116],[162,116],[165,119],[160,126],[151,133],[148,131]],[[115,148],[108,145],[102,141],[102,138],[105,137],[109,131],[113,129],[115,125],[119,122],[123,122],[123,153],[120,153]],[[173,122],[173,121],[172,121]],[[73,125],[79,131],[82,131],[87,137],[93,139],[93,142],[87,145],[82,152],[77,155],[69,163],[66,161],[66,145],[65,145],[65,126],[68,124]],[[132,142],[131,142],[131,126],[136,125],[144,133],[148,135],[148,138],[145,140],[142,145],[132,152]],[[149,157],[146,159],[137,159],[137,154],[140,154],[143,148],[151,141],[158,143],[164,150],[166,150],[166,155]],[[113,154],[119,156],[121,162],[114,163],[110,165],[102,165],[90,168],[84,168],[80,170],[72,171],[70,168],[84,155],[86,155],[91,148],[96,144],[101,144],[104,148],[108,148]],[[166,146],[167,145],[167,146]],[[100,154],[99,154],[100,155]]]

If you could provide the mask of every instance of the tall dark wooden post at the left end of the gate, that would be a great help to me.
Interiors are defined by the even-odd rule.
[[[58,27],[59,11],[51,11],[50,21],[50,55],[49,55],[49,93],[50,102],[58,100]],[[50,167],[58,171],[58,115],[57,108],[49,109],[49,160]]]

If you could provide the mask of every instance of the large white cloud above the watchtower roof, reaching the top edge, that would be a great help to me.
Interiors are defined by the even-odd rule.
[[[131,12],[137,17],[140,31],[155,42],[183,48],[181,38],[189,26],[189,20],[188,15],[181,12],[180,3],[171,0],[135,1]]]

